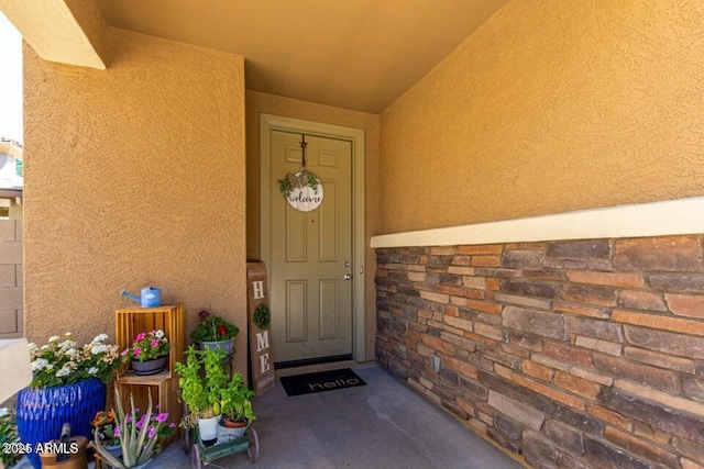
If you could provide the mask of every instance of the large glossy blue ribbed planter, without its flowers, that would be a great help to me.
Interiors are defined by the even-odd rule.
[[[61,437],[62,425],[68,422],[72,436],[81,435],[90,440],[90,421],[105,407],[106,386],[97,378],[54,388],[24,388],[18,394],[18,433],[22,443],[34,448],[37,443]],[[40,457],[28,456],[38,469]]]

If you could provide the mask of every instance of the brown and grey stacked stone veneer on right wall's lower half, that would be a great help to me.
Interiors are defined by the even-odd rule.
[[[703,468],[703,241],[377,249],[376,358],[531,466]]]

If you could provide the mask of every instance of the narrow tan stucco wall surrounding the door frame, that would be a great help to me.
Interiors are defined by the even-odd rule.
[[[364,131],[365,154],[365,246],[372,235],[377,233],[378,213],[378,115],[349,111],[296,99],[282,98],[257,91],[246,91],[246,246],[248,258],[260,260],[260,114],[273,114],[301,119],[326,124],[342,125]],[[366,356],[374,356],[375,302],[374,271],[376,256],[367,248],[365,253],[366,290]]]

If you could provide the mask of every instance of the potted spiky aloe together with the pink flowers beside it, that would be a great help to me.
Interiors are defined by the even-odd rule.
[[[94,435],[96,451],[110,466],[118,469],[143,468],[147,466],[152,456],[158,450],[161,437],[173,435],[173,424],[166,424],[168,414],[152,413],[152,392],[148,393],[148,405],[146,412],[141,414],[134,409],[134,399],[130,395],[131,412],[125,415],[122,409],[122,401],[117,388],[114,400],[118,404],[118,412],[114,415],[114,434],[118,437],[121,454],[116,456],[102,444],[99,432]]]

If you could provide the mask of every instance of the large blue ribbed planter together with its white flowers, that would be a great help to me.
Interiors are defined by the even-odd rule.
[[[16,401],[18,433],[23,444],[34,447],[62,433],[69,423],[73,435],[90,438],[90,422],[106,406],[106,383],[120,366],[117,345],[108,344],[100,334],[90,343],[79,346],[70,333],[64,340],[50,337],[42,346],[29,344],[34,378],[21,390]],[[40,467],[37,454],[28,457]]]

